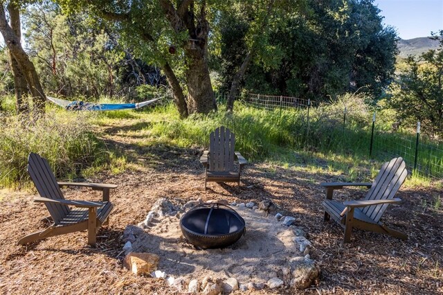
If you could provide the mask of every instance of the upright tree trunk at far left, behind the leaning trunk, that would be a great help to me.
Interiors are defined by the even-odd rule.
[[[8,12],[10,17],[10,26],[18,39],[21,39],[20,13],[17,6],[10,2],[8,5]],[[28,85],[26,83],[25,75],[20,71],[19,65],[12,53],[9,51],[10,66],[12,75],[14,76],[15,89],[15,109],[17,114],[28,111],[28,103],[24,101],[24,96],[28,94]]]

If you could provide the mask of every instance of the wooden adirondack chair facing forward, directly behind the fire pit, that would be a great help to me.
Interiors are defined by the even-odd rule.
[[[208,181],[237,182],[243,166],[248,163],[242,154],[234,151],[235,134],[223,126],[215,129],[209,136],[209,150],[203,152],[200,162],[205,168],[205,190]],[[238,171],[234,171],[234,155],[238,159]]]

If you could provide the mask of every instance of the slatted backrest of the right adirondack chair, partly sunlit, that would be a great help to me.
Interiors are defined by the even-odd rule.
[[[384,163],[365,199],[392,199],[407,175],[406,164],[400,157]],[[387,207],[388,204],[366,206],[362,211],[378,222]]]

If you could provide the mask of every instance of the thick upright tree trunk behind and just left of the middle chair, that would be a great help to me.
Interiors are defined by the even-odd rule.
[[[203,44],[195,44],[195,49],[190,46],[185,50],[187,62],[185,74],[190,114],[208,114],[212,110],[217,110],[217,102],[209,76],[206,39],[199,40],[199,42]]]

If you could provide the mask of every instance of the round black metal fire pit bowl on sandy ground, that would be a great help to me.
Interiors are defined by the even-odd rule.
[[[180,229],[188,242],[201,249],[228,247],[246,232],[243,218],[217,203],[192,208],[181,217]]]

